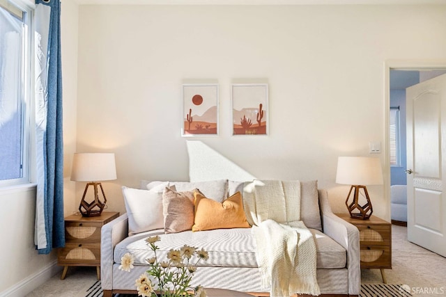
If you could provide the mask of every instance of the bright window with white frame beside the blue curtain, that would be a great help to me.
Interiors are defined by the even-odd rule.
[[[30,15],[0,0],[0,186],[29,182]]]

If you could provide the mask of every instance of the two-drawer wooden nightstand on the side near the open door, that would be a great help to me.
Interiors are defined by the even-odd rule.
[[[384,269],[392,269],[392,225],[376,216],[368,220],[351,218],[349,214],[336,214],[360,230],[361,268],[378,268],[383,282]]]

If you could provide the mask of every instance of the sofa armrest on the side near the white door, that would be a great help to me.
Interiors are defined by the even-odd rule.
[[[347,251],[348,294],[359,295],[361,290],[360,232],[357,227],[333,214],[326,191],[319,191],[323,233]]]

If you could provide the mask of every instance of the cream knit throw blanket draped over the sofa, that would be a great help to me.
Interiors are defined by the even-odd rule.
[[[243,192],[247,220],[256,239],[262,287],[270,286],[271,297],[321,294],[316,280],[316,245],[300,220],[300,182],[255,180],[245,183]]]

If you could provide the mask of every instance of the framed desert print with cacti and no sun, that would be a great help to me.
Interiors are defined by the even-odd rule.
[[[233,135],[268,135],[268,84],[231,86]]]

